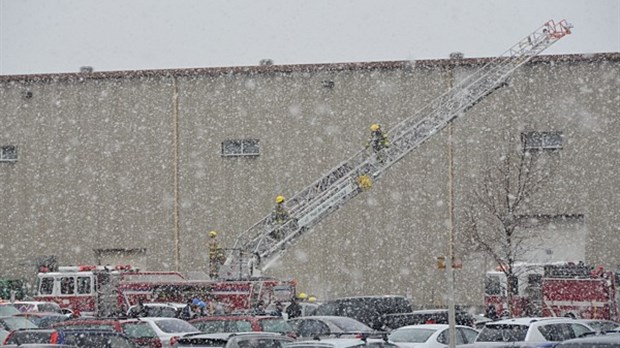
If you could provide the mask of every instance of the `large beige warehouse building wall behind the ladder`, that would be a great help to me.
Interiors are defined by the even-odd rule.
[[[224,247],[485,59],[0,76],[0,276],[35,265],[208,273]],[[541,136],[558,160],[531,197],[550,260],[620,265],[620,54],[541,56],[290,246],[268,275],[320,299],[402,294],[441,305],[436,258],[481,304],[495,264],[463,241],[482,172]],[[515,143],[516,139],[516,143]]]

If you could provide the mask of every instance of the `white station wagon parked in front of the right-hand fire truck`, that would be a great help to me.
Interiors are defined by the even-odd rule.
[[[480,342],[561,342],[593,330],[572,318],[514,318],[487,323],[476,338]]]

